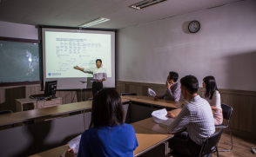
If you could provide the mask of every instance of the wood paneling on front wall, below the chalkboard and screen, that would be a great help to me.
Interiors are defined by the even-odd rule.
[[[16,112],[15,100],[29,97],[30,95],[44,94],[41,85],[11,86],[0,88],[0,111],[11,110]],[[57,91],[57,97],[62,97],[62,104],[77,102],[77,91]],[[91,94],[92,95],[92,94]]]

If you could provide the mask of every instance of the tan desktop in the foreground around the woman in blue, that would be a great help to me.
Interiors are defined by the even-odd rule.
[[[159,134],[152,130],[141,128],[136,125],[131,126],[134,128],[138,147],[134,151],[134,156],[139,156],[140,154],[144,154],[145,152],[151,150],[154,147],[157,147],[164,141],[168,141],[172,138],[172,134]],[[69,149],[68,145],[64,145],[61,147],[56,147],[47,151],[44,151],[39,154],[31,155],[30,157],[48,157],[48,156],[60,156],[64,153],[65,150]]]

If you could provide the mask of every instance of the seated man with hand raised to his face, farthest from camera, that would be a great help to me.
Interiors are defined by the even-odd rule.
[[[180,85],[177,80],[179,79],[179,75],[176,72],[171,71],[166,80],[166,92],[165,95],[156,95],[157,99],[167,99],[170,101],[179,101],[180,98]]]

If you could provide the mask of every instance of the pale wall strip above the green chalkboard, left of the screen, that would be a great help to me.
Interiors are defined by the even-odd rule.
[[[36,26],[0,21],[0,36],[38,40]]]

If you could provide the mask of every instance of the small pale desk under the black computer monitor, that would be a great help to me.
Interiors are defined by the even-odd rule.
[[[24,111],[24,104],[26,103],[32,103],[34,105],[34,109],[38,108],[49,108],[54,107],[62,104],[62,98],[58,97],[56,99],[51,99],[51,101],[37,101],[37,99],[30,99],[30,98],[24,98],[24,99],[16,99],[16,110]]]

